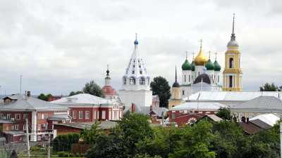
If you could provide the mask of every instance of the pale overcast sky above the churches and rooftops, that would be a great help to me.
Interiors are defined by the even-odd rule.
[[[231,3],[232,2],[232,3]],[[172,85],[175,66],[188,51],[202,50],[223,72],[233,13],[241,53],[244,91],[262,82],[282,86],[282,1],[6,1],[0,0],[0,94],[68,95],[94,80],[104,86],[109,64],[111,86],[139,52],[154,77]],[[221,78],[222,79],[222,78]]]

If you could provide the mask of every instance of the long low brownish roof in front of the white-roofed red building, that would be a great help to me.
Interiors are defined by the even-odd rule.
[[[76,129],[85,129],[86,126],[87,126],[87,128],[89,128],[93,124],[95,124],[94,121],[60,123],[60,124],[56,124],[56,125],[69,126],[69,127],[73,127],[73,128],[76,128]],[[99,126],[102,126],[102,129],[109,129],[111,127],[116,126],[116,121],[102,121],[101,124],[99,124]]]

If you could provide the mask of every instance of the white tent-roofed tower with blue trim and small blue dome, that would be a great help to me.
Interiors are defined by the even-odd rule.
[[[152,105],[150,77],[138,51],[137,37],[134,41],[134,51],[125,68],[121,83],[122,89],[119,90],[119,98],[126,107],[131,107],[132,103],[147,107]]]

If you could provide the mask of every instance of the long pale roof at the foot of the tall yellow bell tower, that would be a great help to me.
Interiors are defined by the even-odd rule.
[[[201,93],[199,97],[199,93]],[[259,96],[282,98],[282,91],[201,91],[189,96],[188,100],[247,101]]]

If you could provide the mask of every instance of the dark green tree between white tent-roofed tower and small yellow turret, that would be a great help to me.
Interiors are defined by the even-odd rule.
[[[168,107],[168,99],[171,97],[171,86],[164,77],[154,77],[150,84],[153,95],[159,96],[159,107]]]

